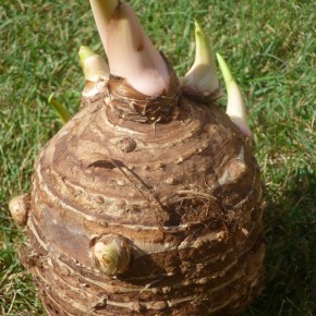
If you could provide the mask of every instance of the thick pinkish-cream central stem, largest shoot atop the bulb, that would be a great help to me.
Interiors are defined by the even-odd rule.
[[[101,5],[101,2],[107,1],[90,0],[92,5],[98,4],[101,10],[93,11],[97,24],[101,20],[102,23],[99,24],[104,25],[101,32],[100,27],[98,28],[108,54],[111,74],[125,78],[134,89],[146,96],[160,95],[169,86],[169,70],[144,33],[136,14],[122,1],[119,1],[119,5],[110,14],[106,11],[107,5]]]

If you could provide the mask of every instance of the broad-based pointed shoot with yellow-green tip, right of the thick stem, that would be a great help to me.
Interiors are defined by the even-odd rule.
[[[195,21],[195,61],[190,71],[184,75],[184,87],[206,96],[211,95],[219,89],[215,54],[209,38],[197,21]]]

